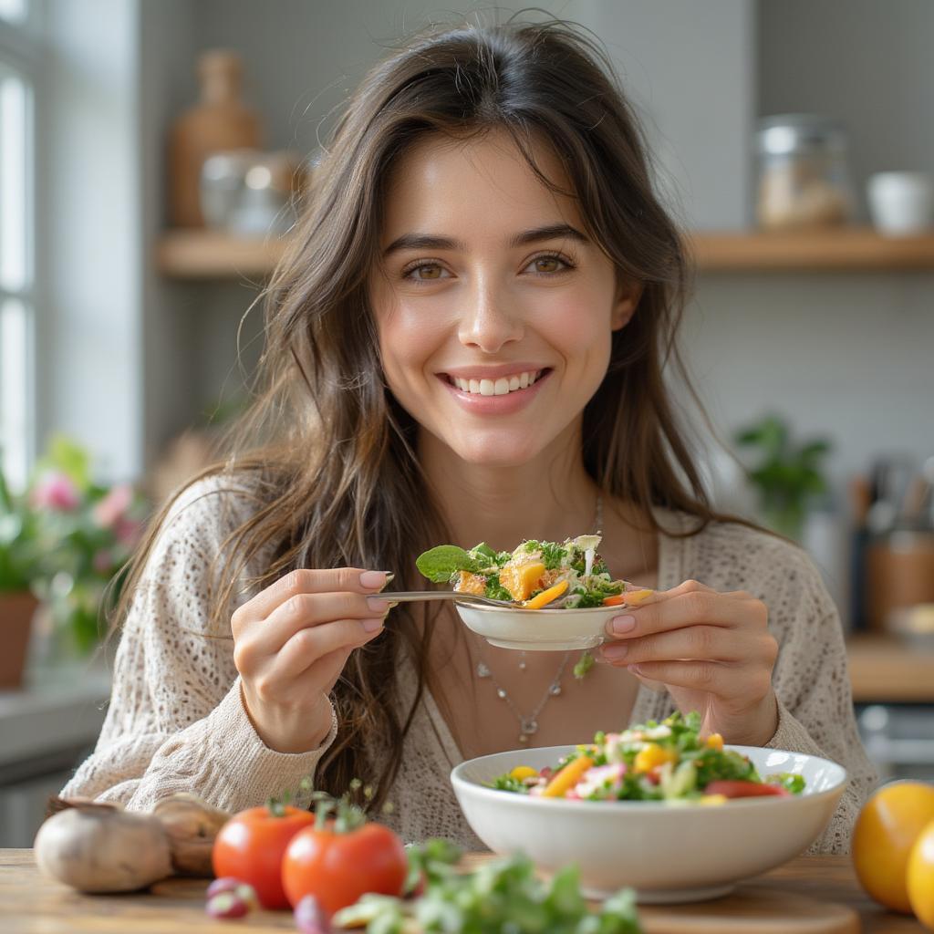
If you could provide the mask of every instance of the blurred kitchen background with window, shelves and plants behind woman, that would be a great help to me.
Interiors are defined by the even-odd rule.
[[[934,4],[539,7],[600,36],[689,235],[715,503],[814,555],[870,755],[934,776]],[[0,0],[0,845],[94,741],[104,588],[243,404],[347,93],[520,8]]]

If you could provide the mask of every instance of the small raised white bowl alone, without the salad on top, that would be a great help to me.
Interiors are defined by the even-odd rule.
[[[490,645],[529,652],[567,652],[594,648],[606,639],[604,627],[625,606],[591,606],[584,610],[523,610],[511,606],[479,606],[455,601],[468,629]]]

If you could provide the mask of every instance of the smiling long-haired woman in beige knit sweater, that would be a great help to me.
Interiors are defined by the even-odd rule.
[[[846,849],[872,773],[838,616],[798,548],[706,502],[662,379],[684,250],[611,75],[548,23],[429,35],[363,81],[268,291],[265,389],[136,559],[65,793],[238,810],[359,776],[406,840],[476,847],[462,757],[677,707],[842,762],[816,845]],[[387,570],[423,587],[432,545],[597,528],[613,576],[659,594],[582,681],[378,596]]]

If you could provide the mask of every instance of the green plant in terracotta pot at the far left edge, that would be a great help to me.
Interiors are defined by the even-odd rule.
[[[37,605],[32,586],[38,573],[35,515],[15,497],[0,469],[0,689],[19,687]]]

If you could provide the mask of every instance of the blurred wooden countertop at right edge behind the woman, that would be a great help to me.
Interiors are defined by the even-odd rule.
[[[860,633],[847,657],[856,703],[934,703],[934,646]]]

